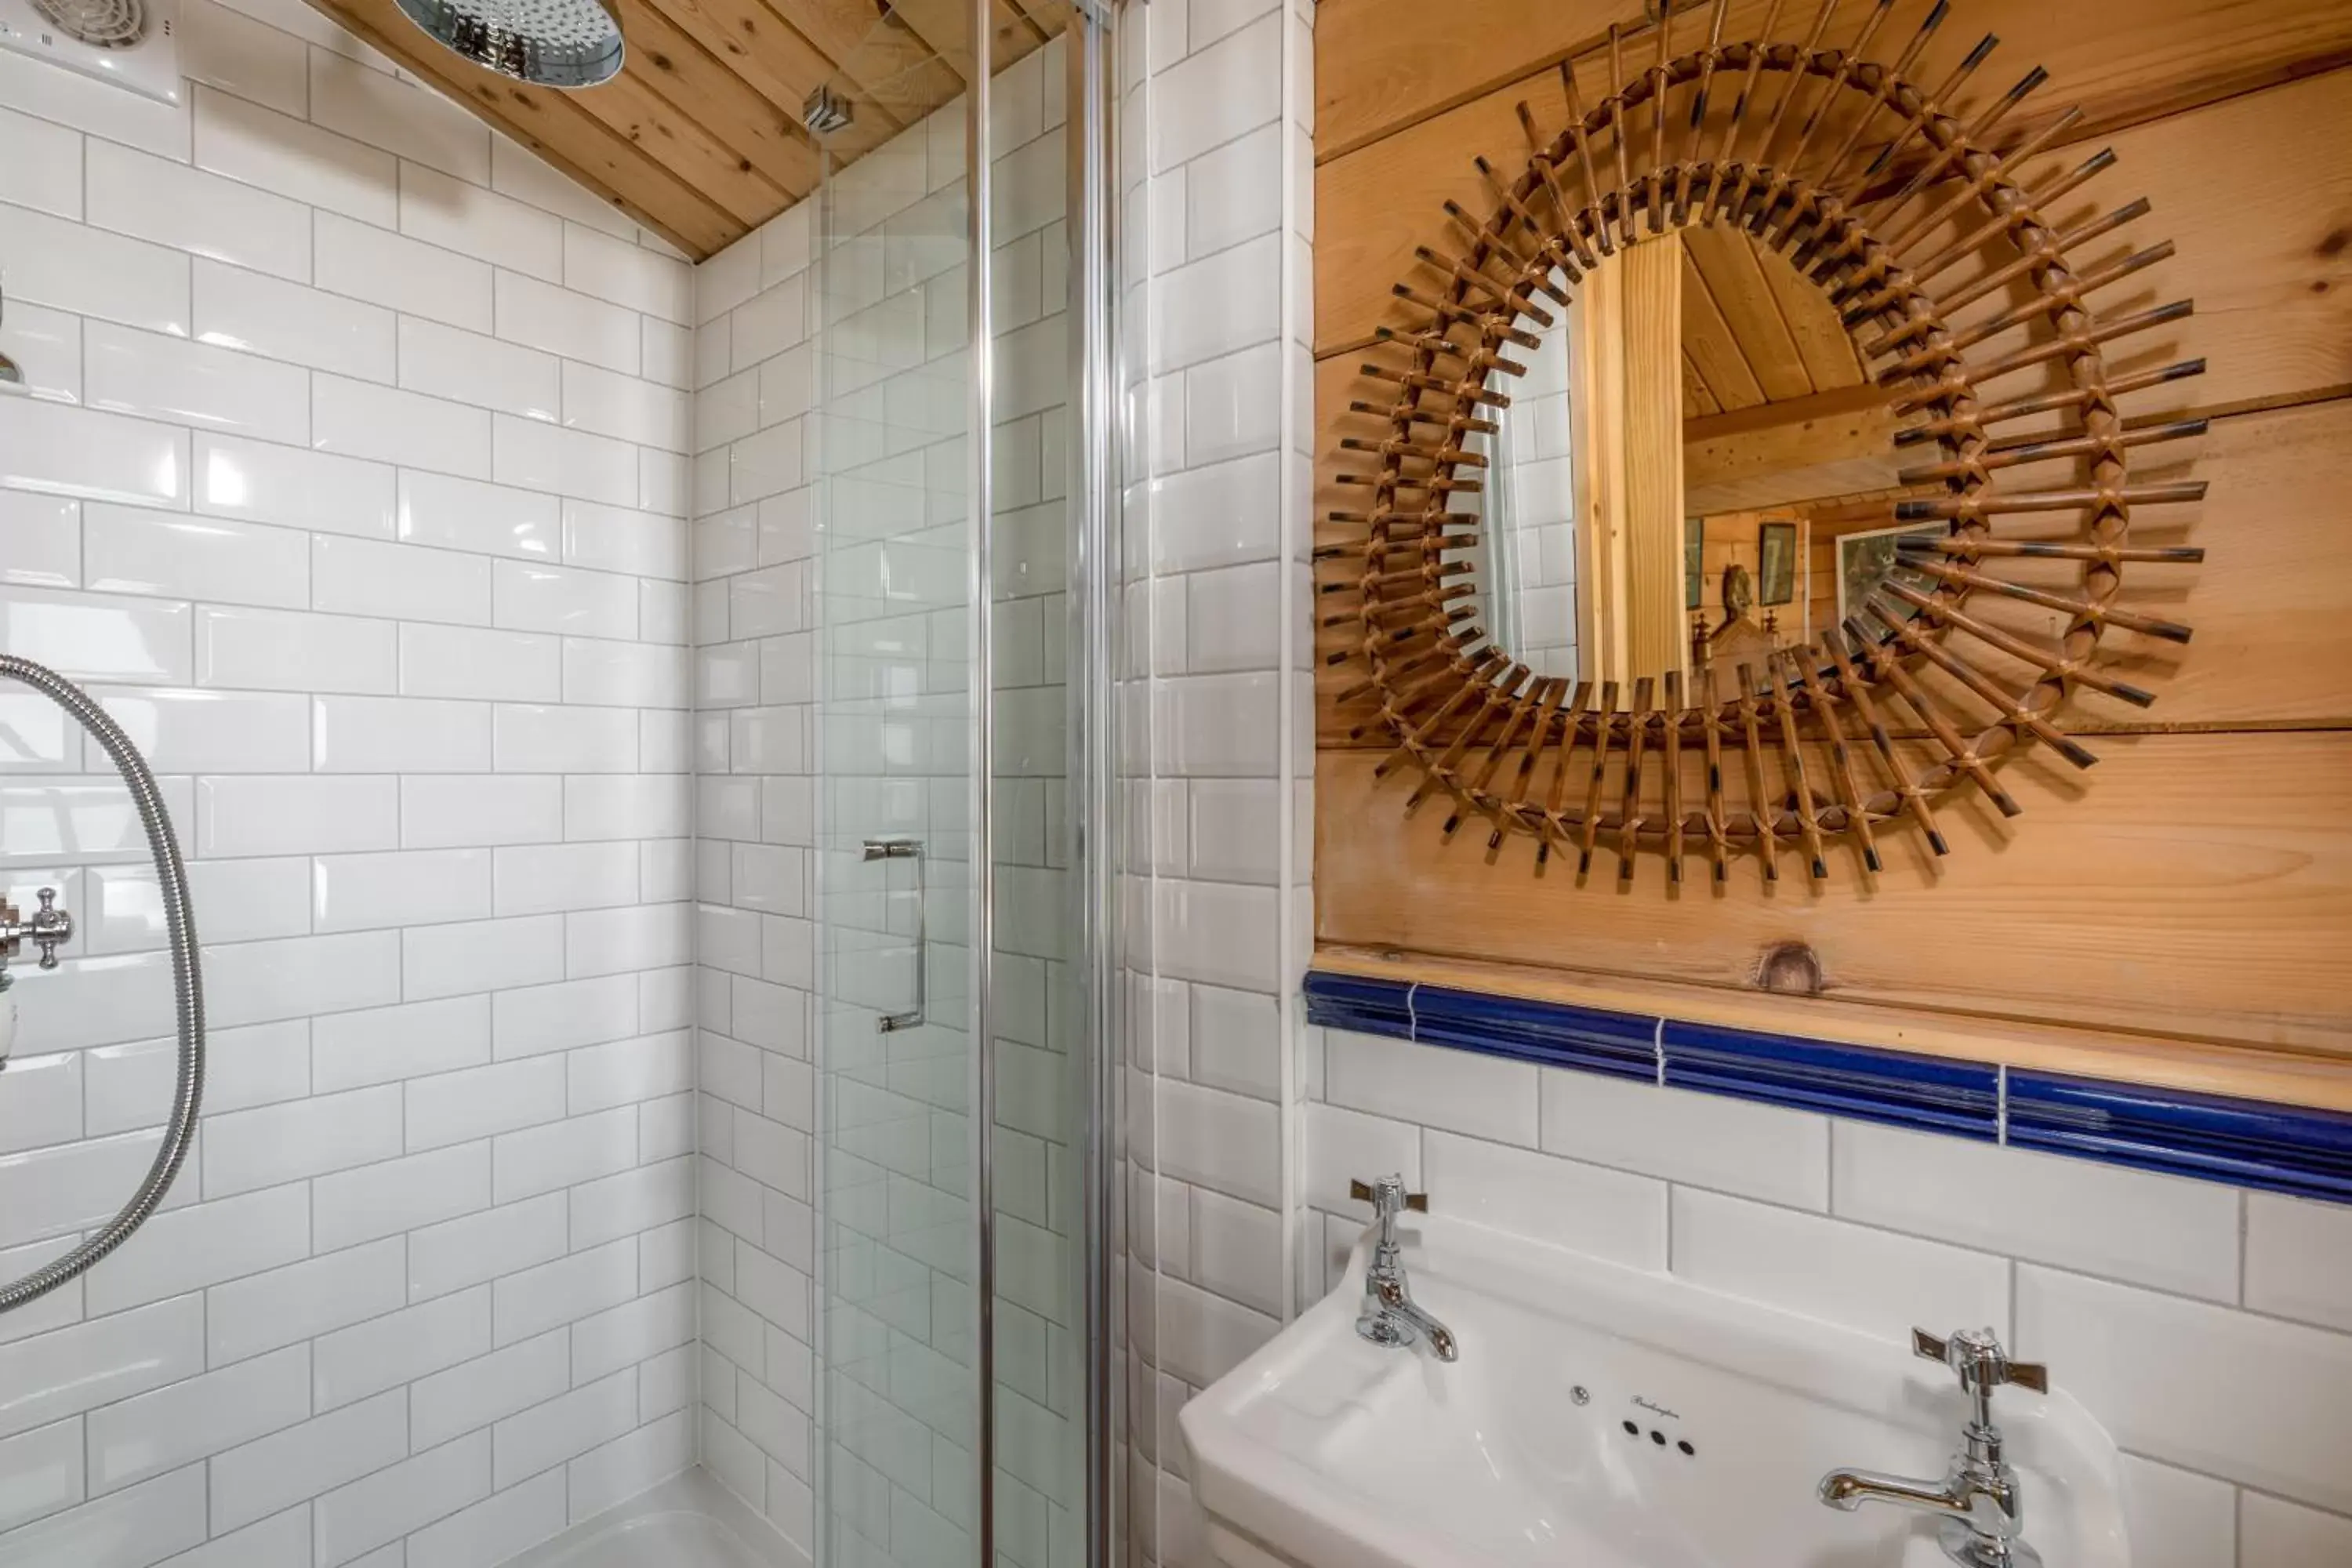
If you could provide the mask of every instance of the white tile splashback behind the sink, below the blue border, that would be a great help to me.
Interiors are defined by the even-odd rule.
[[[1308,1063],[1319,1098],[1305,1105],[1305,1199],[1322,1227],[1312,1288],[1348,1284],[1348,1248],[1369,1218],[1345,1180],[1404,1171],[1432,1208],[1477,1225],[1672,1269],[1882,1340],[1992,1326],[2018,1356],[2046,1359],[2129,1455],[2133,1561],[2345,1561],[2345,1208],[1319,1034],[1319,1063]],[[1479,1077],[1482,1088],[1465,1088]],[[1435,1081],[1456,1088],[1430,1095]],[[1484,1110],[1468,1105],[1472,1093]],[[1486,1126],[1451,1131],[1465,1119]]]

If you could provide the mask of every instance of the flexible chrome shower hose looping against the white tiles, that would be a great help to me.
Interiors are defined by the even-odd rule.
[[[113,757],[115,771],[122,773],[122,783],[129,785],[132,804],[139,806],[139,823],[148,835],[148,853],[155,856],[155,884],[162,889],[162,919],[172,945],[174,1011],[179,1016],[179,1086],[172,1093],[172,1124],[162,1133],[162,1145],[155,1150],[155,1164],[148,1166],[146,1180],[139,1182],[139,1192],[122,1206],[122,1213],[78,1248],[9,1286],[0,1286],[0,1312],[7,1312],[9,1307],[21,1307],[47,1295],[122,1246],[155,1213],[162,1194],[172,1190],[172,1178],[179,1175],[179,1166],[188,1159],[188,1143],[195,1138],[195,1112],[205,1098],[205,976],[195,954],[195,919],[188,912],[188,870],[179,863],[179,839],[172,837],[172,816],[165,811],[162,792],[155,788],[155,776],[148,771],[146,757],[139,755],[139,748],[122,733],[122,726],[87,691],[56,670],[45,670],[31,658],[0,654],[0,675],[33,686],[71,712],[82,729],[99,738],[99,745]],[[0,1093],[7,1093],[5,1072],[0,1072]]]

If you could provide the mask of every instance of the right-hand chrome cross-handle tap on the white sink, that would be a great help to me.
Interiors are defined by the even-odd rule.
[[[1849,1514],[1865,1502],[1891,1502],[1936,1514],[1936,1542],[1966,1568],[2039,1568],[2042,1554],[2025,1544],[2025,1505],[2018,1472],[2002,1458],[2002,1429],[1992,1425],[1992,1389],[2004,1382],[2046,1394],[2049,1368],[2011,1361],[1990,1328],[1962,1328],[1938,1340],[1912,1328],[1912,1352],[1959,1373],[1959,1387],[1976,1401],[1943,1481],[1882,1476],[1867,1469],[1832,1469],[1820,1479],[1820,1500]]]

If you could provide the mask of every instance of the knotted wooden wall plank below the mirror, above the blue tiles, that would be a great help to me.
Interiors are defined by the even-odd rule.
[[[2032,755],[2004,769],[2025,806],[2013,820],[1973,792],[1938,806],[1945,860],[1882,835],[1877,877],[1835,853],[1818,891],[1788,867],[1766,889],[1750,853],[1724,891],[1686,875],[1679,896],[1656,860],[1623,893],[1602,863],[1585,886],[1573,858],[1538,875],[1524,839],[1489,865],[1484,832],[1404,818],[1414,780],[1376,780],[1376,752],[1327,752],[1317,940],[1726,990],[1752,987],[1766,947],[1804,940],[1849,1004],[2352,1053],[2352,733],[2100,750],[2091,778]]]

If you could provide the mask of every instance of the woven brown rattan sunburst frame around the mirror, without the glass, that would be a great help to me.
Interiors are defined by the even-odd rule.
[[[1611,92],[1590,113],[1573,63],[1562,63],[1566,127],[1552,136],[1519,103],[1524,167],[1503,176],[1475,160],[1494,209],[1479,221],[1446,202],[1449,233],[1465,249],[1416,249],[1416,275],[1395,296],[1418,322],[1381,329],[1388,362],[1362,367],[1395,388],[1395,402],[1352,402],[1378,435],[1338,442],[1334,480],[1369,491],[1364,508],[1329,512],[1343,536],[1315,550],[1319,623],[1345,639],[1329,661],[1359,668],[1338,701],[1376,698],[1378,717],[1357,724],[1355,738],[1385,729],[1395,750],[1378,771],[1421,769],[1406,809],[1444,795],[1449,837],[1484,818],[1489,858],[1505,839],[1531,837],[1538,867],[1555,846],[1573,849],[1583,877],[1606,846],[1630,879],[1637,856],[1653,851],[1679,882],[1684,856],[1703,853],[1724,882],[1750,853],[1764,879],[1778,879],[1788,849],[1825,879],[1837,839],[1877,872],[1879,832],[1898,823],[1917,825],[1943,856],[1950,839],[1936,804],[1952,790],[1973,785],[2002,816],[2018,813],[1997,769],[2023,745],[2042,743],[2074,766],[2096,762],[2058,724],[2077,684],[2138,708],[2154,701],[2096,668],[2107,628],[2190,639],[2187,625],[2122,604],[2122,569],[2204,559],[2201,548],[2126,543],[2133,508],[2199,501],[2204,484],[2131,484],[2129,454],[2201,435],[2204,421],[2126,423],[2117,404],[2201,374],[2204,362],[2117,376],[2103,346],[2192,308],[2103,315],[2089,299],[2173,247],[2079,268],[2072,254],[2143,216],[2147,202],[2067,230],[2044,216],[2114,155],[2058,162],[2025,181],[2020,169],[2063,143],[2082,110],[1997,146],[2002,120],[2046,78],[2034,68],[1962,120],[1950,106],[1994,40],[1924,87],[1915,73],[1945,21],[1943,2],[1891,61],[1870,52],[1893,0],[1875,0],[1846,47],[1823,47],[1839,0],[1820,2],[1802,40],[1771,38],[1776,0],[1759,40],[1724,45],[1726,9],[1729,0],[1715,0],[1703,16],[1670,14],[1653,28],[1653,61],[1632,80],[1611,28]],[[1700,31],[1705,42],[1675,54],[1677,24],[1686,42]],[[1449,498],[1479,487],[1484,458],[1463,440],[1491,428],[1484,411],[1505,402],[1489,388],[1498,367],[1510,369],[1505,350],[1534,343],[1517,327],[1522,310],[1538,294],[1573,299],[1576,282],[1637,233],[1689,223],[1736,223],[1830,294],[1907,421],[1896,447],[1938,454],[1900,470],[1910,494],[1896,520],[1943,520],[1950,534],[1905,550],[1936,583],[1931,592],[1891,588],[1912,616],[1875,614],[1867,635],[1849,621],[1853,646],[1825,635],[1804,656],[1776,654],[1762,672],[1740,665],[1736,693],[1719,693],[1708,670],[1689,693],[1696,703],[1668,677],[1663,701],[1642,679],[1621,705],[1616,684],[1595,691],[1536,677],[1470,623],[1470,562],[1446,555],[1475,545],[1468,524],[1477,520]],[[1955,320],[2002,299],[2016,303]],[[1971,348],[1994,339],[1997,355],[1971,360]],[[2013,383],[2002,400],[1980,393],[2034,371],[2051,386]],[[2023,433],[1992,435],[2009,423]],[[2074,463],[2077,484],[2002,484],[2004,470],[2053,461]],[[2070,538],[1999,529],[1999,520],[2067,512],[2079,517]],[[2053,590],[2011,576],[2034,559],[2077,562],[2079,581]],[[2006,630],[1971,614],[1971,595],[2053,611],[2063,630]],[[1726,752],[1738,759],[1726,764]],[[1726,773],[1745,785],[1743,804],[1726,799]]]

